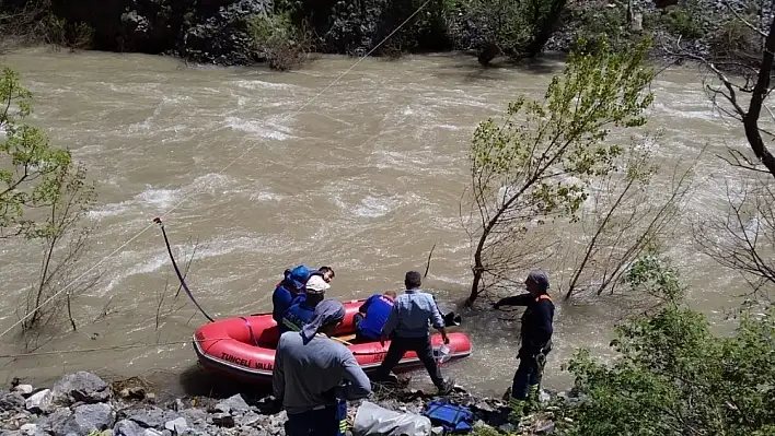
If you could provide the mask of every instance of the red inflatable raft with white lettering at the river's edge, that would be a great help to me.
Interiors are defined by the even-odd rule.
[[[352,317],[363,301],[344,303],[347,315],[336,335],[351,335],[355,332]],[[275,363],[275,346],[279,338],[277,323],[271,314],[236,317],[210,322],[194,334],[194,350],[199,363],[207,369],[252,382],[270,382]],[[450,358],[471,355],[471,341],[465,333],[448,333]],[[431,335],[431,344],[443,343],[440,334]],[[379,367],[388,353],[390,341],[382,346],[379,342],[349,345],[356,360],[369,373]],[[414,352],[407,352],[395,367],[395,372],[421,366]]]

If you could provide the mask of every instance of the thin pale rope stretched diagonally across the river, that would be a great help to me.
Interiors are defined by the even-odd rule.
[[[388,39],[390,39],[393,35],[395,35],[396,32],[398,32],[402,27],[404,27],[404,26],[406,25],[406,23],[408,23],[412,19],[415,17],[415,15],[417,15],[423,9],[425,9],[425,7],[428,5],[428,3],[430,3],[430,0],[426,0],[423,4],[420,4],[420,7],[417,8],[417,9],[412,13],[412,15],[409,15],[406,20],[404,20],[401,24],[398,24],[398,26],[397,26],[395,30],[393,30],[393,32],[391,32],[390,34],[388,34],[388,36],[385,36],[385,37],[384,37],[379,44],[377,44],[371,50],[369,50],[366,55],[361,56],[350,68],[348,68],[348,69],[345,70],[342,74],[339,74],[336,79],[334,79],[333,82],[328,83],[328,85],[327,85],[326,87],[324,87],[323,91],[321,91],[320,93],[315,94],[315,96],[312,97],[312,99],[310,99],[309,102],[306,102],[306,103],[305,103],[304,105],[302,105],[299,109],[297,109],[291,116],[287,116],[286,118],[294,117],[294,116],[299,115],[302,110],[304,110],[308,106],[310,106],[314,101],[317,99],[317,97],[320,97],[321,95],[323,95],[323,93],[325,93],[326,91],[328,91],[328,89],[331,89],[331,87],[334,86],[337,82],[339,82],[339,80],[342,80],[342,78],[344,78],[347,73],[349,73],[350,71],[352,71],[352,69],[355,69],[356,67],[358,67],[358,64],[359,64],[360,62],[362,62],[363,59],[366,59],[366,58],[368,58],[369,56],[371,56],[371,54],[373,54],[373,52],[374,52],[378,48],[380,48],[385,42],[388,42]],[[231,161],[227,166],[223,167],[223,169],[221,169],[220,172],[218,172],[217,175],[219,175],[219,176],[222,175],[223,172],[225,172],[227,169],[231,168],[231,166],[234,165],[236,162],[241,161],[247,153],[250,153],[251,151],[253,151],[253,149],[255,149],[256,146],[258,146],[258,144],[259,144],[259,142],[256,142],[255,144],[248,146],[248,148],[247,148],[242,154],[240,154],[235,160]],[[183,203],[184,203],[192,195],[194,195],[194,193],[196,193],[196,191],[194,191],[194,192],[192,192],[192,193],[189,193],[189,195],[183,197],[183,199],[181,199],[181,201],[178,201],[177,203],[173,204],[172,208],[170,208],[166,212],[162,213],[159,217],[161,219],[161,217],[164,217],[164,216],[169,215],[172,211],[174,211],[175,209],[177,209],[181,204],[183,204]],[[90,272],[94,271],[97,267],[100,267],[100,266],[101,266],[103,262],[105,262],[107,259],[114,257],[116,254],[118,254],[119,251],[122,251],[124,248],[126,248],[126,246],[128,246],[129,244],[131,244],[135,239],[137,239],[138,237],[140,237],[140,235],[142,235],[143,233],[146,233],[146,232],[147,232],[149,228],[151,228],[152,226],[153,226],[153,223],[152,223],[152,224],[149,224],[149,225],[146,226],[143,229],[141,229],[140,232],[138,232],[135,236],[132,236],[132,237],[130,237],[129,239],[127,239],[126,243],[124,243],[124,244],[122,244],[120,246],[118,246],[118,248],[116,248],[115,250],[113,250],[111,254],[108,254],[107,256],[105,256],[105,257],[103,257],[102,259],[100,259],[100,261],[96,262],[93,267],[91,267],[90,269],[88,269],[86,271],[84,271],[82,274],[80,274],[79,276],[77,276],[73,281],[71,281],[70,283],[68,283],[65,287],[62,287],[61,290],[59,290],[58,292],[56,292],[56,293],[55,293],[54,295],[51,295],[50,297],[46,298],[43,303],[41,303],[39,305],[37,305],[37,307],[35,307],[33,310],[30,310],[25,316],[21,317],[21,318],[20,318],[16,322],[14,322],[11,327],[9,327],[8,329],[5,329],[2,333],[0,333],[0,338],[2,338],[2,337],[4,337],[5,334],[8,334],[8,332],[10,332],[10,331],[13,330],[14,328],[16,328],[16,326],[21,325],[21,323],[24,322],[27,318],[30,318],[31,316],[33,316],[33,314],[37,313],[37,310],[41,309],[41,307],[47,305],[47,304],[50,303],[54,298],[56,298],[57,296],[61,295],[65,291],[69,290],[73,284],[76,284],[79,280],[83,279],[83,278],[84,278],[86,274],[89,274]],[[11,315],[13,315],[13,311],[9,311],[9,313],[8,313],[8,316],[11,316]]]

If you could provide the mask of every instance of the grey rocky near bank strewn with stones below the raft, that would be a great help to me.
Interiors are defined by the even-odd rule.
[[[419,414],[433,397],[418,390],[377,390],[371,402],[401,413]],[[559,406],[572,404],[565,394],[542,392],[543,411],[514,426],[508,409],[497,399],[476,398],[456,387],[448,399],[471,409],[475,428],[490,432],[547,434],[555,429]],[[273,413],[267,398],[235,394],[224,399],[174,398],[160,401],[141,386],[108,384],[94,374],[69,374],[50,388],[18,384],[0,389],[2,436],[178,436],[178,435],[285,435],[285,412]],[[352,424],[360,402],[349,404]],[[351,426],[350,426],[351,428]],[[441,433],[441,427],[433,427]]]

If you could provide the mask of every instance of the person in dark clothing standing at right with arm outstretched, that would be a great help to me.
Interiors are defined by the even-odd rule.
[[[537,400],[546,354],[552,350],[554,332],[554,303],[548,295],[548,274],[544,271],[531,271],[524,285],[527,293],[502,298],[493,305],[495,309],[501,306],[527,306],[522,314],[521,346],[517,354],[519,367],[514,373],[509,399],[513,417],[525,413],[530,405],[529,397]]]

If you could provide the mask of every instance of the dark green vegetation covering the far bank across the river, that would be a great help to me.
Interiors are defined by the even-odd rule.
[[[761,5],[752,2],[745,10],[719,11],[706,3],[678,0],[656,8],[650,0],[285,0],[274,2],[268,14],[219,16],[211,8],[160,0],[137,2],[137,11],[126,17],[126,11],[105,12],[123,14],[115,24],[106,24],[97,14],[86,23],[79,21],[83,13],[74,14],[72,22],[67,10],[55,15],[50,0],[4,0],[0,34],[31,44],[148,49],[200,60],[203,50],[212,50],[216,62],[225,61],[229,50],[240,50],[245,52],[231,54],[239,62],[267,62],[277,70],[300,64],[311,51],[395,58],[462,49],[475,51],[479,62],[487,64],[497,56],[522,59],[545,48],[569,50],[578,36],[590,47],[604,38],[626,49],[648,38],[659,40],[657,50],[681,42],[695,49],[707,47],[705,54],[728,62],[756,58],[761,23],[755,13]],[[188,47],[194,40],[195,47]]]

